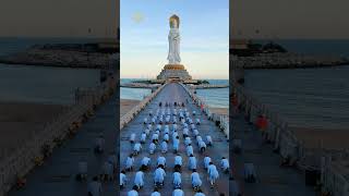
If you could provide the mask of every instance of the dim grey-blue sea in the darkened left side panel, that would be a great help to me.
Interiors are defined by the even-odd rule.
[[[0,38],[0,56],[23,51],[37,44],[77,44],[92,39]],[[8,65],[0,63],[0,101],[25,101],[55,105],[74,102],[77,87],[99,83],[99,70]]]

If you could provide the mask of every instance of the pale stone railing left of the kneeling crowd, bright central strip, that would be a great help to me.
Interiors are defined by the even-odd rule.
[[[146,96],[137,106],[133,107],[128,113],[120,118],[120,130],[131,122],[166,86],[159,86],[153,94]]]

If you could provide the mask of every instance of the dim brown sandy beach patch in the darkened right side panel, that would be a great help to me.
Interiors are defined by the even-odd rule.
[[[327,130],[311,127],[290,127],[296,136],[309,148],[318,147],[322,140],[327,149],[344,149],[349,147],[349,130]]]

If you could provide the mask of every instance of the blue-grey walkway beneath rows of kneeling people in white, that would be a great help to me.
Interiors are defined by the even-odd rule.
[[[159,102],[185,102],[185,100],[190,100],[189,103],[185,105],[185,108],[191,113],[191,118],[196,119],[198,118],[201,120],[201,125],[197,125],[196,128],[200,132],[200,135],[205,140],[206,135],[210,135],[214,142],[213,147],[207,147],[206,151],[204,154],[201,154],[198,150],[198,147],[195,144],[195,138],[193,135],[191,135],[192,142],[193,142],[193,148],[194,148],[194,156],[197,159],[197,172],[200,173],[201,180],[203,182],[202,191],[205,195],[219,195],[225,194],[226,196],[229,195],[229,174],[225,174],[220,170],[220,159],[221,157],[227,157],[229,154],[229,146],[226,136],[222,132],[218,130],[218,127],[215,125],[214,122],[208,121],[207,117],[203,114],[197,106],[195,106],[186,91],[183,89],[182,86],[176,83],[168,84],[159,94],[158,96],[143,110],[137,114],[137,117],[131,121],[120,133],[121,140],[120,140],[120,147],[121,147],[121,155],[120,155],[120,166],[121,170],[125,167],[125,160],[127,157],[133,151],[133,144],[129,142],[130,135],[132,133],[136,134],[136,142],[140,142],[141,133],[145,130],[145,125],[143,124],[144,118],[149,119],[149,111],[155,111],[159,109]],[[165,107],[161,108],[170,108],[172,107]],[[180,107],[177,107],[178,110]],[[184,108],[182,108],[184,109]],[[192,115],[192,112],[195,111],[196,115],[195,118]],[[182,138],[182,125],[178,123],[178,131],[180,136],[180,147],[179,147],[179,154],[183,158],[183,166],[182,166],[182,189],[184,191],[185,195],[194,195],[193,188],[191,186],[191,171],[188,168],[188,156],[185,155],[185,145]],[[171,126],[170,126],[171,127]],[[154,128],[155,130],[155,128]],[[170,128],[171,130],[171,128]],[[152,135],[155,131],[152,131],[149,135]],[[160,134],[163,135],[163,134]],[[159,137],[161,140],[161,136]],[[172,184],[172,173],[173,173],[173,167],[174,167],[174,154],[172,150],[172,139],[170,134],[170,142],[169,142],[169,150],[166,154],[160,152],[159,145],[157,145],[157,150],[155,154],[149,155],[148,154],[148,146],[151,144],[151,138],[148,137],[146,143],[142,145],[143,150],[140,155],[137,155],[135,160],[135,170],[131,172],[127,172],[127,176],[129,179],[128,184],[121,191],[121,195],[127,195],[129,191],[132,189],[132,186],[134,185],[134,176],[135,172],[141,167],[141,160],[143,157],[148,156],[151,161],[151,169],[145,172],[145,185],[142,189],[139,191],[140,195],[151,195],[154,189],[154,171],[156,169],[156,160],[158,157],[164,156],[166,158],[166,177],[165,177],[165,185],[163,188],[160,188],[161,195],[171,195],[173,191],[173,184]],[[218,172],[219,172],[219,181],[216,183],[216,185],[210,188],[210,184],[207,180],[208,175],[206,170],[204,169],[204,157],[209,156],[213,160],[213,163],[217,166]]]

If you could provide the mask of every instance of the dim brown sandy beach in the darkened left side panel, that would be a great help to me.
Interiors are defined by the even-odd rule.
[[[0,149],[16,148],[35,130],[40,130],[67,108],[59,105],[0,102]]]

